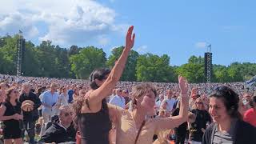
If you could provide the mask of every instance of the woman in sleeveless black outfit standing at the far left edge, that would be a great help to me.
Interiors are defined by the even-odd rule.
[[[19,93],[15,87],[11,87],[6,92],[6,102],[0,107],[0,121],[3,121],[3,138],[5,144],[11,144],[12,140],[15,143],[21,144],[22,130],[19,120],[23,119],[21,115],[21,103],[18,102]]]

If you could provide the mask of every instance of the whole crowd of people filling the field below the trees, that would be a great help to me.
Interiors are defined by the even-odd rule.
[[[89,80],[0,74],[4,143],[256,143],[256,95],[245,83],[119,82],[133,26],[112,70]]]

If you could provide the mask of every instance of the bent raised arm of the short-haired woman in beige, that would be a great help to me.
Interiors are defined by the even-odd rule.
[[[186,82],[186,79],[182,76],[178,77],[178,85],[180,88],[180,110],[179,114],[174,117],[168,117],[168,118],[158,118],[157,123],[157,129],[159,130],[169,130],[171,128],[177,127],[181,125],[183,122],[186,122],[187,120],[187,114],[189,110],[189,96],[187,94],[188,91],[188,84]]]

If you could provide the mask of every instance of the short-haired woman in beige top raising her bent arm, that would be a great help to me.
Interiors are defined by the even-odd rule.
[[[148,111],[154,109],[157,90],[150,84],[143,83],[134,86],[131,96],[134,110],[123,110],[109,104],[111,119],[117,130],[117,144],[150,144],[154,134],[170,130],[187,120],[189,97],[186,79],[178,78],[181,89],[181,106],[178,116],[167,118],[152,118]]]

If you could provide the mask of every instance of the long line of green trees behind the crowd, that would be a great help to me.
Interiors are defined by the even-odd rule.
[[[18,35],[0,38],[0,74],[16,74]],[[95,46],[54,46],[42,41],[39,46],[26,42],[22,61],[22,75],[48,78],[87,79],[95,68],[114,66],[122,54],[123,46],[114,48],[106,58],[102,48]],[[244,82],[256,75],[256,64],[233,62],[230,66],[213,65],[212,82]],[[205,82],[204,58],[192,55],[182,66],[170,66],[167,54],[138,54],[131,50],[122,74],[122,81],[177,82],[178,74],[189,82]]]

